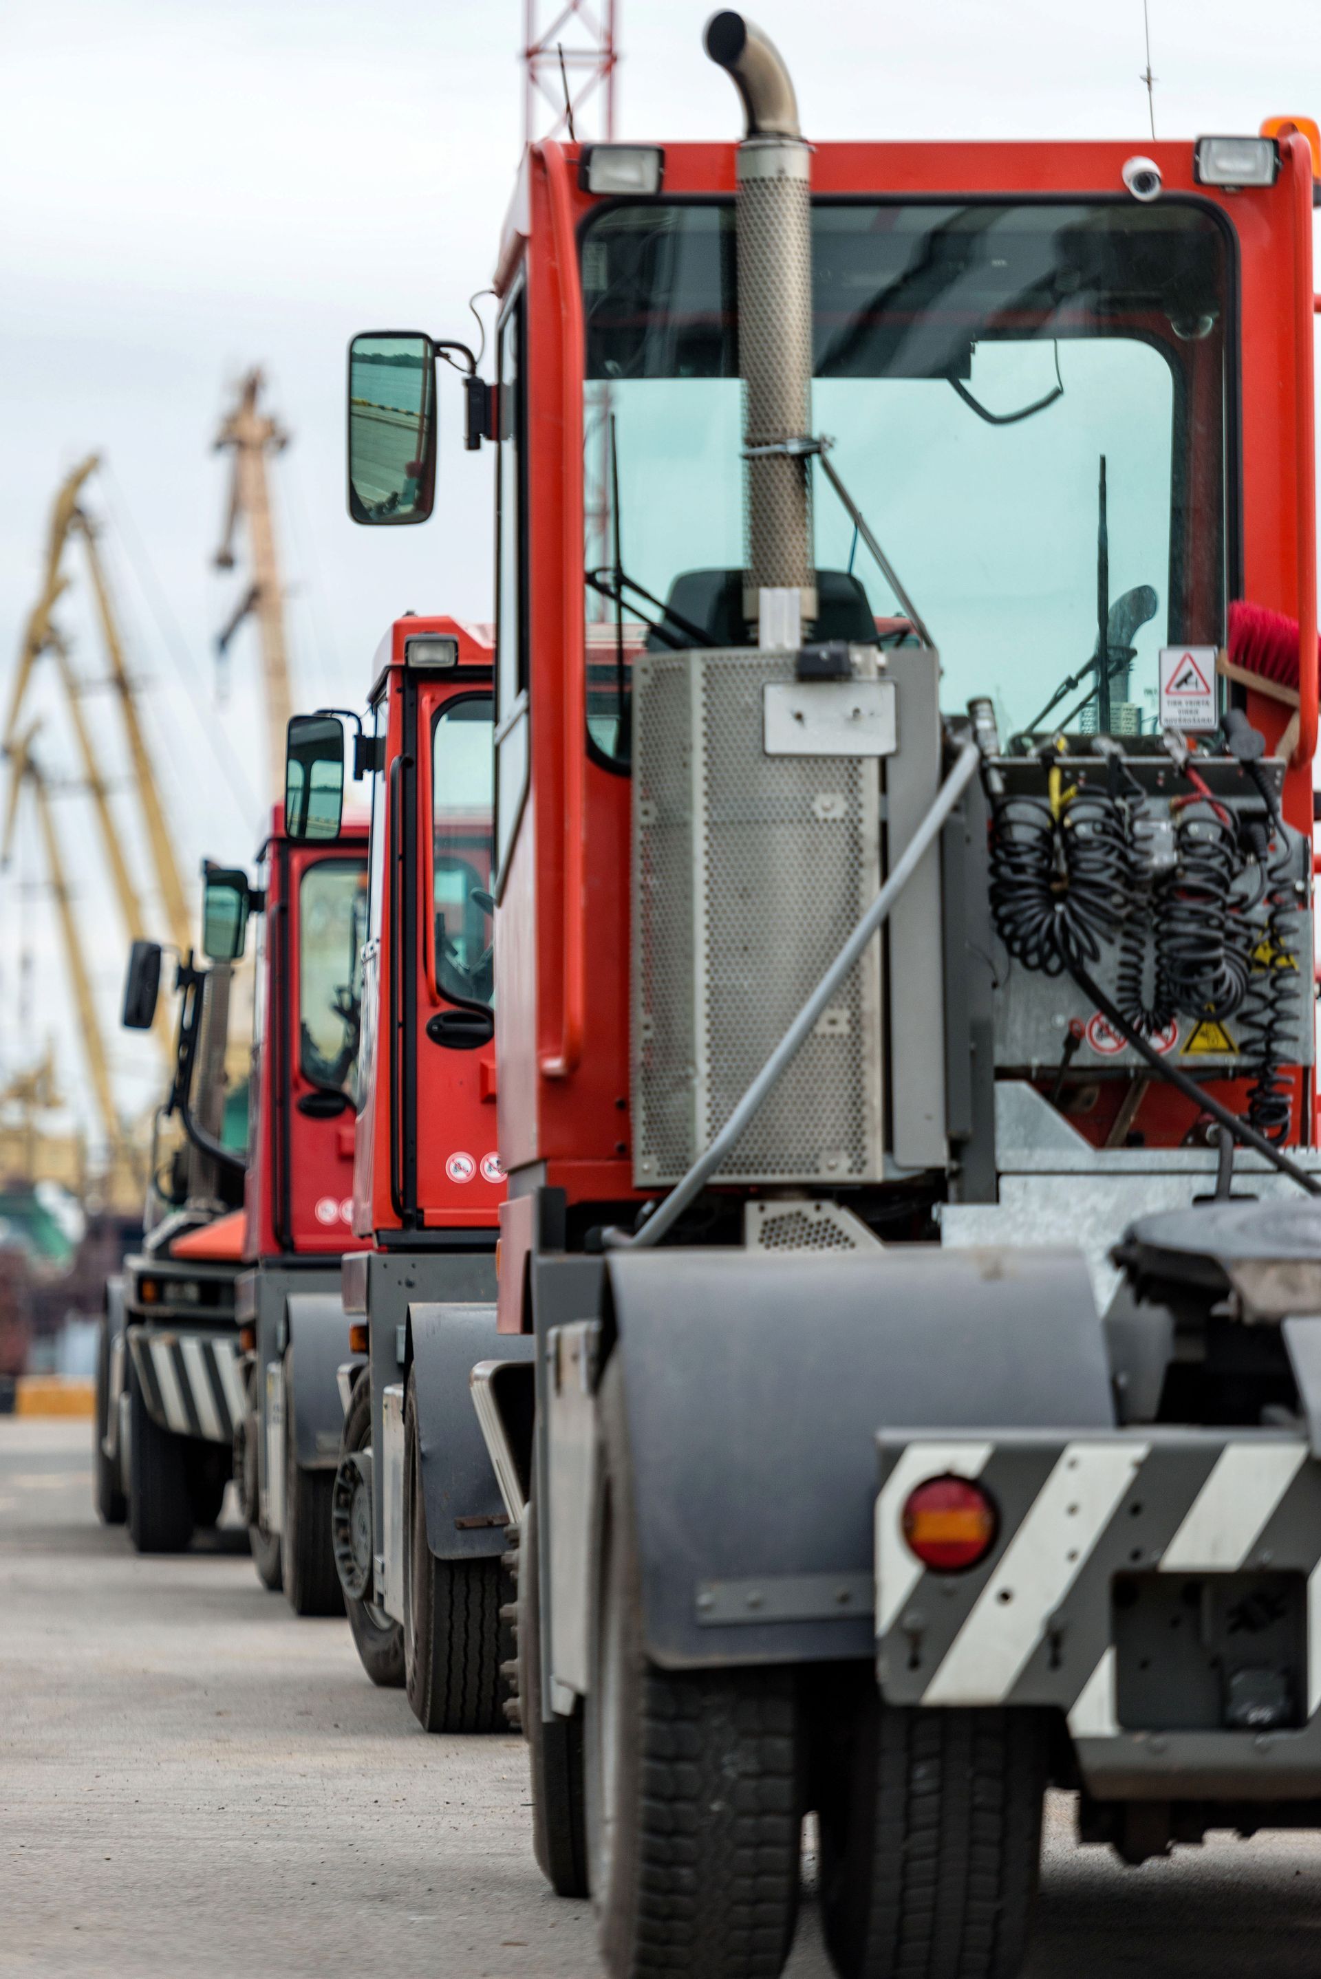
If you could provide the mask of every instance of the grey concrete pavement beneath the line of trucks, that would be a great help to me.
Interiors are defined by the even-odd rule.
[[[0,1973],[594,1979],[533,1864],[513,1738],[426,1738],[341,1621],[220,1534],[137,1559],[91,1427],[0,1419]],[[786,1979],[826,1979],[808,1898]],[[1214,1838],[1125,1872],[1052,1805],[1028,1979],[1315,1979],[1321,1844]]]

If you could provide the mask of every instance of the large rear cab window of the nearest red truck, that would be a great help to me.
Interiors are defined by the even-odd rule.
[[[1093,730],[1105,617],[1109,728],[1153,732],[1159,647],[1224,631],[1218,220],[852,200],[812,228],[814,431],[939,647],[945,708],[990,695],[1012,734],[1079,675],[1046,726]],[[582,289],[588,726],[624,756],[644,641],[747,639],[733,206],[602,210]],[[818,570],[909,635],[820,463],[812,511]]]

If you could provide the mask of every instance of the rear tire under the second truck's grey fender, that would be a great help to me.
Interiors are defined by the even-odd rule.
[[[426,1536],[414,1381],[404,1399],[404,1688],[424,1732],[507,1732],[501,1666],[503,1567],[436,1559]]]

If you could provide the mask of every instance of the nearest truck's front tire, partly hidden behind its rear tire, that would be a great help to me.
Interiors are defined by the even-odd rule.
[[[582,1807],[582,1706],[572,1718],[541,1718],[541,1569],[537,1504],[519,1530],[519,1714],[533,1775],[533,1852],[557,1896],[586,1896]]]

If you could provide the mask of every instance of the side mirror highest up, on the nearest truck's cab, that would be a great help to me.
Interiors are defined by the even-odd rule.
[[[349,344],[349,515],[426,522],[436,501],[436,344],[372,330]]]

